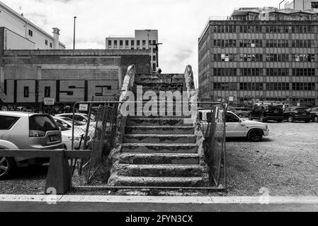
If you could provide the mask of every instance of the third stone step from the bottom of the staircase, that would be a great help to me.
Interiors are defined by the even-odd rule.
[[[199,165],[198,154],[186,153],[120,153],[120,164],[135,165]]]

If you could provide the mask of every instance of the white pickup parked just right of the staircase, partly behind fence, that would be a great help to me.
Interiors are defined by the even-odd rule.
[[[210,109],[199,110],[199,118],[203,131],[208,129],[208,123],[211,121],[211,116]],[[268,136],[269,133],[267,124],[259,121],[240,119],[233,112],[227,112],[225,124],[225,136],[227,138],[247,137],[249,138],[249,141],[259,142],[262,140],[263,136]]]

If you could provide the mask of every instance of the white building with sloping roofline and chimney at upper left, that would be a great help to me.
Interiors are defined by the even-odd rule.
[[[6,49],[65,49],[59,42],[59,29],[48,34],[0,1],[1,45]]]

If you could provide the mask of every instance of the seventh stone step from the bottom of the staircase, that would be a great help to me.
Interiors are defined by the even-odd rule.
[[[189,122],[190,121],[190,122]],[[129,117],[127,126],[191,126],[192,120],[185,117]]]

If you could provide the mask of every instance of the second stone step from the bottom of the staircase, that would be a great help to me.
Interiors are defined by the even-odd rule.
[[[201,177],[200,165],[115,165],[112,174],[127,177]]]

